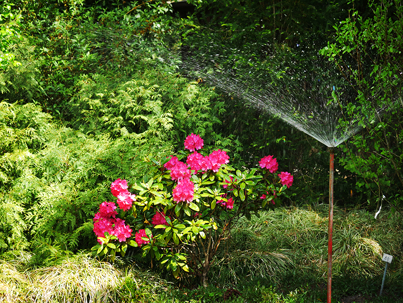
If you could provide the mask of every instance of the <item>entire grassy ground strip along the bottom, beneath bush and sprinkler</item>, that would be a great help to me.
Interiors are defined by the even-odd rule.
[[[211,269],[209,286],[162,279],[136,264],[112,266],[88,254],[35,268],[27,253],[3,255],[0,302],[319,302],[326,298],[327,209],[279,208],[240,219]],[[401,219],[334,210],[332,297],[337,302],[401,299]],[[384,295],[382,254],[393,256]],[[27,266],[29,269],[27,269]],[[30,266],[30,267],[29,267]],[[185,285],[185,286],[184,286]]]

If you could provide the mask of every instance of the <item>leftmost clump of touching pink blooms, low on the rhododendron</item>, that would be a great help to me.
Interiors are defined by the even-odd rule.
[[[117,236],[119,242],[125,241],[131,236],[131,228],[124,224],[124,220],[116,218],[116,205],[114,202],[102,202],[99,206],[99,212],[94,216],[94,232],[97,237],[104,237],[105,232]],[[98,243],[102,241],[98,238]]]

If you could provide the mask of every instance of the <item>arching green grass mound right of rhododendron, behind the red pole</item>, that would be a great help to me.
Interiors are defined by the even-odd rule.
[[[335,207],[333,213],[332,274],[381,274],[386,223],[375,221],[365,211],[344,212]],[[325,208],[292,207],[260,212],[251,220],[241,218],[215,264],[212,278],[233,283],[248,276],[278,281],[290,273],[308,273],[320,281],[327,274],[327,215]]]

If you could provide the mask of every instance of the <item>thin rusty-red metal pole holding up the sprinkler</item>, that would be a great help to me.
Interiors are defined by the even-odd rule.
[[[331,256],[332,256],[332,237],[333,237],[333,170],[334,170],[334,151],[330,148],[330,169],[329,169],[329,224],[327,243],[327,303],[331,303]]]

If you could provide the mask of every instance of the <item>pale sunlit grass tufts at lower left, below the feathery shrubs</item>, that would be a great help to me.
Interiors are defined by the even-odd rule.
[[[16,257],[0,263],[0,303],[155,302],[168,285],[151,271],[121,270],[84,253],[37,269]]]

